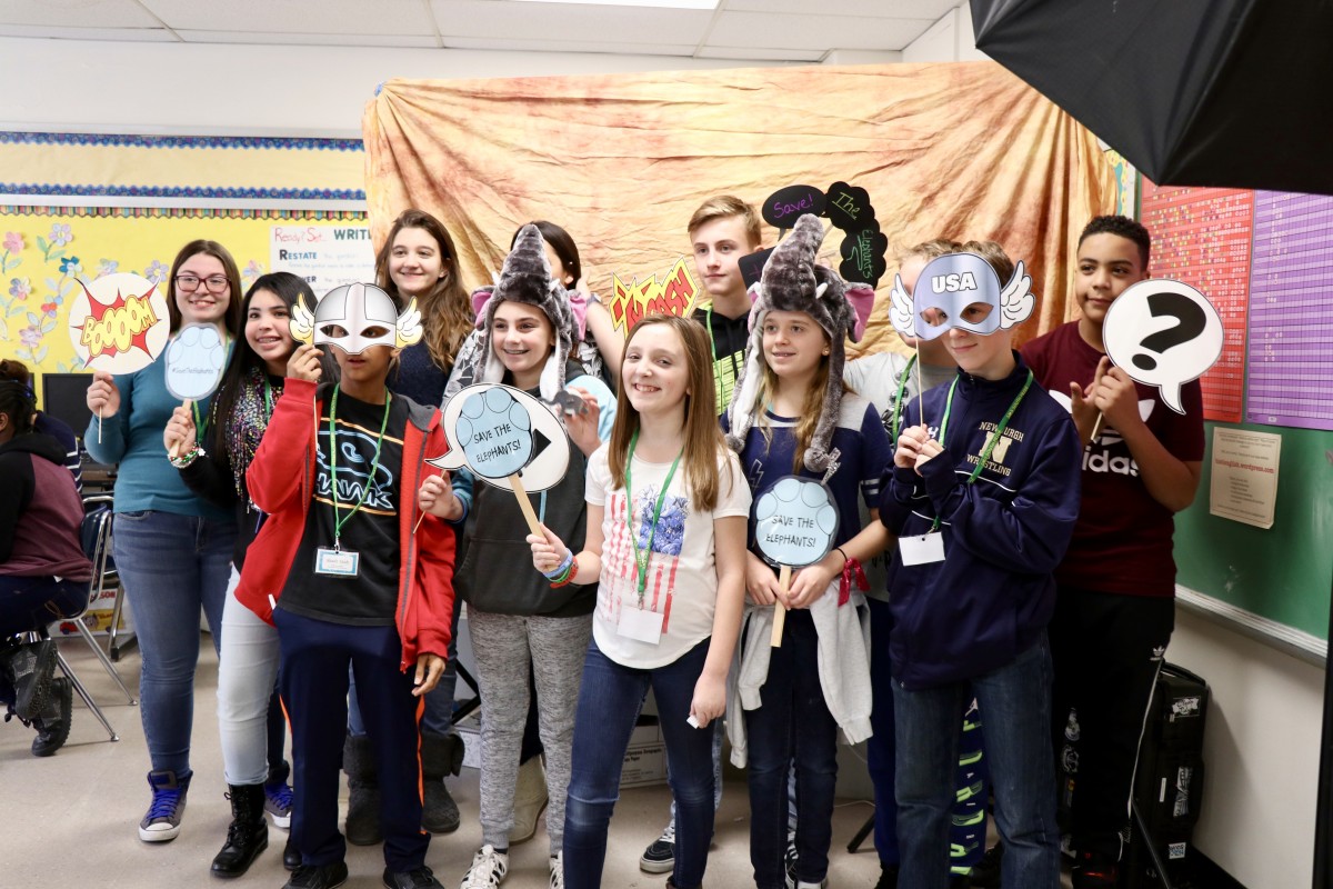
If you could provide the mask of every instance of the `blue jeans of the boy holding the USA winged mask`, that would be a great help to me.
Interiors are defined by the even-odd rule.
[[[949,812],[958,765],[958,714],[976,694],[1004,840],[1001,882],[1060,888],[1056,773],[1050,754],[1050,648],[1026,652],[970,682],[908,690],[893,684],[902,889],[949,885]]]

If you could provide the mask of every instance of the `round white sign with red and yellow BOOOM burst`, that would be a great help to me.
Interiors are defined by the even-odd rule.
[[[79,280],[69,305],[69,340],[84,367],[107,373],[135,373],[167,348],[171,319],[156,284],[117,272],[95,281]]]

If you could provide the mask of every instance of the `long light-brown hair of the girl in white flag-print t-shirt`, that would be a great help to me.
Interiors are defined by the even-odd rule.
[[[713,356],[708,345],[708,333],[702,325],[690,319],[674,315],[647,315],[629,332],[625,352],[629,352],[635,336],[655,324],[665,324],[676,332],[685,351],[685,369],[690,395],[685,396],[684,460],[685,480],[689,484],[690,501],[694,508],[708,512],[717,505],[718,468],[717,456],[729,453],[722,429],[717,425],[717,395],[713,391]],[[624,360],[621,360],[624,365]],[[617,488],[625,486],[625,465],[629,456],[629,440],[639,432],[639,412],[629,403],[629,387],[616,391],[616,423],[611,429],[611,443],[607,448],[611,480]],[[733,465],[728,460],[728,466]],[[728,473],[728,492],[736,480]],[[633,492],[627,492],[633,496]]]

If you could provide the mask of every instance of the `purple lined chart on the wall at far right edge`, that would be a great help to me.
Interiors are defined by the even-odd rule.
[[[1333,429],[1333,197],[1254,192],[1245,419]]]

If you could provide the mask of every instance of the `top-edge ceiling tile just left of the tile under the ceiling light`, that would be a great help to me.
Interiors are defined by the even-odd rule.
[[[236,33],[433,35],[421,0],[141,0],[169,28]],[[256,41],[259,43],[259,41]]]

